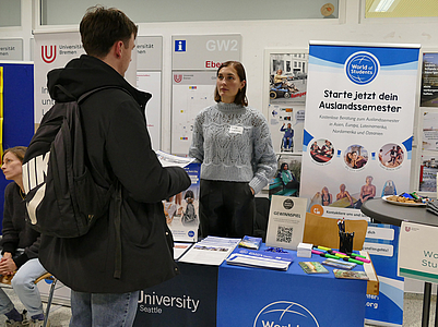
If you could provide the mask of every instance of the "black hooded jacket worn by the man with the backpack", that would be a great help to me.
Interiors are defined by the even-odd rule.
[[[144,107],[150,94],[132,87],[99,59],[82,56],[48,74],[50,96],[67,101],[55,85],[73,96],[102,86],[81,105],[87,156],[95,181],[109,187],[121,183],[121,278],[115,271],[115,205],[80,238],[42,235],[43,266],[71,289],[92,293],[122,293],[163,282],[178,274],[173,238],[162,201],[190,186],[181,168],[163,168],[151,147]]]

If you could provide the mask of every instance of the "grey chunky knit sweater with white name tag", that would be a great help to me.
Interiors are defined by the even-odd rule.
[[[248,182],[256,194],[276,171],[267,119],[235,104],[218,102],[198,113],[189,156],[202,162],[201,179]]]

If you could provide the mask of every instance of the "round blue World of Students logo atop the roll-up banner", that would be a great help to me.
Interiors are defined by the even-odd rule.
[[[379,60],[366,51],[355,52],[345,61],[345,74],[357,85],[371,83],[380,70]]]

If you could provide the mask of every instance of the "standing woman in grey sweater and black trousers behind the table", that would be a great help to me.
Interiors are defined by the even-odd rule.
[[[240,62],[217,70],[215,105],[196,118],[189,156],[201,162],[201,235],[251,235],[254,194],[275,174],[276,158],[268,121],[248,107]]]

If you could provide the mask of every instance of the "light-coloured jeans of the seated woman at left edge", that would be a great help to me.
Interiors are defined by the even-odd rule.
[[[27,261],[23,266],[16,270],[15,276],[12,278],[11,284],[27,310],[28,315],[35,316],[43,313],[42,298],[39,296],[38,287],[34,281],[46,272],[37,258]],[[0,288],[0,314],[5,314],[14,307],[9,296]]]

